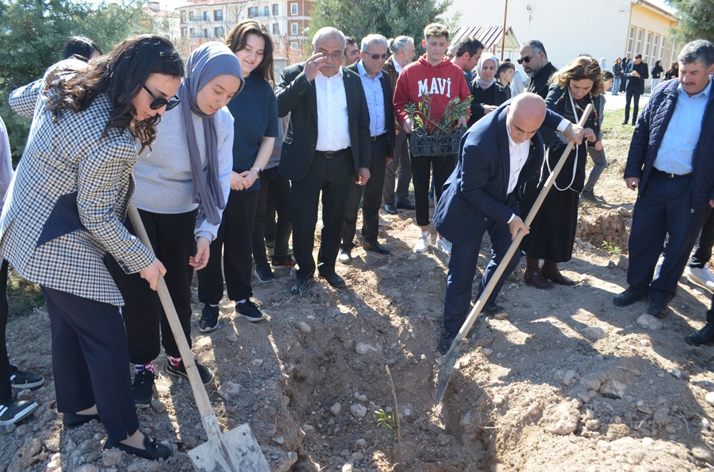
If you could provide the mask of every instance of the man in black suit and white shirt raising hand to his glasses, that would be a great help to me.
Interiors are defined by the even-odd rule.
[[[367,103],[358,73],[342,67],[342,31],[326,27],[313,37],[313,56],[285,68],[278,84],[278,116],[290,113],[278,173],[291,180],[293,255],[298,265],[291,293],[308,287],[315,269],[332,287],[341,231],[352,184],[370,178],[372,140]],[[383,171],[382,171],[383,172]],[[322,235],[313,259],[318,202]]]

